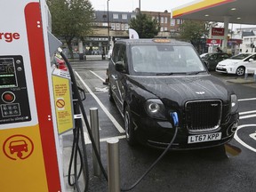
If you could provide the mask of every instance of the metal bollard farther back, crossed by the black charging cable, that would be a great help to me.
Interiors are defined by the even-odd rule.
[[[92,129],[92,137],[95,141],[95,145],[97,151],[100,155],[100,136],[99,136],[99,116],[98,116],[98,108],[90,108],[90,122],[91,122],[91,129]],[[95,152],[92,148],[92,163],[93,163],[93,175],[100,176],[100,165],[97,161],[97,157]]]

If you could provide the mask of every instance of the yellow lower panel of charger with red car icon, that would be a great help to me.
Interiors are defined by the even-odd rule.
[[[48,191],[39,126],[0,131],[1,191]]]

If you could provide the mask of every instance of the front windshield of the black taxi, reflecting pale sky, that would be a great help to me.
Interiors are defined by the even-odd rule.
[[[204,64],[191,46],[171,44],[132,45],[132,68],[140,75],[175,75],[204,72]]]

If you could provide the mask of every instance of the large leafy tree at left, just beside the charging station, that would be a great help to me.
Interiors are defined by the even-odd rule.
[[[52,34],[65,39],[73,58],[72,40],[83,40],[92,32],[92,4],[89,0],[48,0],[47,4],[52,14]]]

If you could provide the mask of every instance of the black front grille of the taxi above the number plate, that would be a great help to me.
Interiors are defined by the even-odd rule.
[[[185,105],[186,126],[190,132],[218,129],[221,120],[221,100],[188,101]]]

